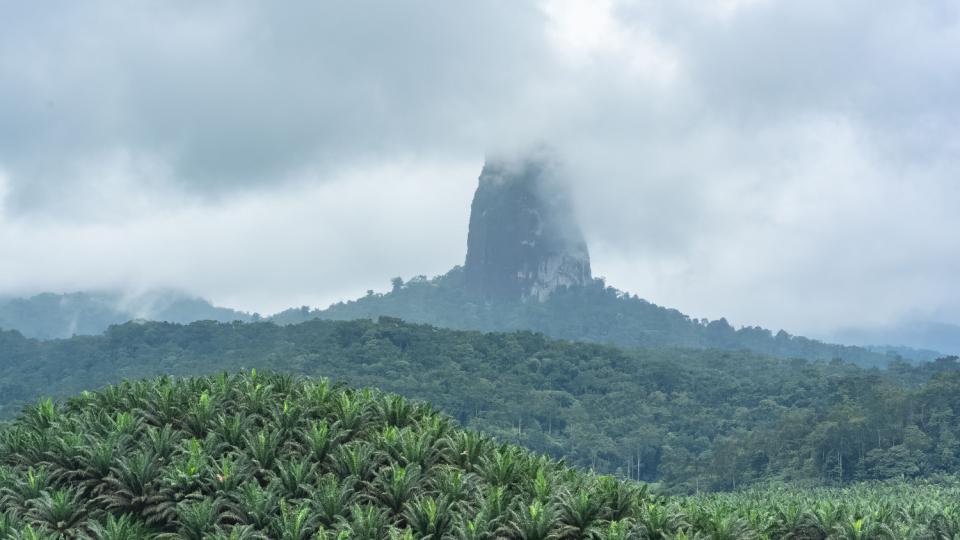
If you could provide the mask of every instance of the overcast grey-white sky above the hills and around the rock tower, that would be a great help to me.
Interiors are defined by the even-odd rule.
[[[485,155],[549,144],[618,288],[960,323],[958,6],[0,1],[0,295],[385,290],[462,263]]]

